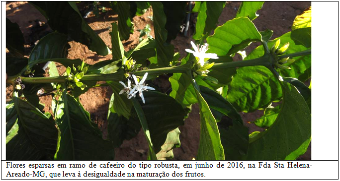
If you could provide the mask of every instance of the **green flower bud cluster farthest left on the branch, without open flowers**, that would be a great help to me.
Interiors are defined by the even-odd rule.
[[[82,65],[78,65],[76,68],[75,65],[73,65],[72,69],[71,67],[67,67],[66,74],[67,74],[67,80],[69,86],[74,89],[75,87],[79,87],[82,90],[84,90],[87,86],[81,82],[80,80],[83,78],[84,74],[87,72],[88,66],[85,66],[85,62],[83,61]]]

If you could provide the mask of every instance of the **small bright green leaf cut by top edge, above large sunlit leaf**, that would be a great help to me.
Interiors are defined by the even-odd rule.
[[[262,8],[263,3],[264,1],[243,1],[236,13],[236,18],[248,17],[253,21],[258,16],[256,11]]]

